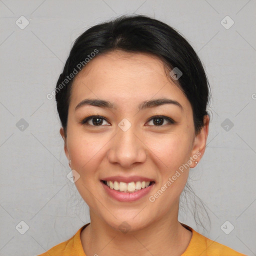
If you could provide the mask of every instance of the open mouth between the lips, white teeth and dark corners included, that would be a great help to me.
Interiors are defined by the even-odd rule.
[[[152,186],[154,181],[131,181],[131,182],[118,182],[116,180],[100,180],[104,185],[108,186],[110,189],[121,193],[135,193]]]

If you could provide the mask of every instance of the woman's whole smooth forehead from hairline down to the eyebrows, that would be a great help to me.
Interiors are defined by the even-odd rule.
[[[71,107],[88,97],[125,107],[135,101],[169,97],[189,107],[183,92],[167,77],[163,61],[140,52],[111,51],[90,60],[74,78]]]

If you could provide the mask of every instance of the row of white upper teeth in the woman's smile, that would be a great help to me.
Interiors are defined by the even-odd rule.
[[[149,186],[150,181],[132,181],[129,183],[118,182],[118,181],[106,181],[107,186],[111,189],[119,190],[119,191],[128,191],[134,192],[135,190],[139,190],[141,188],[145,188]]]

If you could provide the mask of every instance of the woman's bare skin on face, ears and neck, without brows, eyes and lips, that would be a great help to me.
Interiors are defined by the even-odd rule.
[[[138,111],[145,100],[170,98],[178,101]],[[85,105],[84,98],[100,98],[116,104],[116,109]],[[101,115],[101,126],[90,119]],[[165,115],[175,123],[157,125],[154,115]],[[123,131],[118,123],[126,118],[131,127]],[[95,120],[95,119],[94,119]],[[156,120],[157,121],[157,120]],[[191,239],[191,232],[178,221],[179,196],[189,167],[158,197],[153,195],[179,166],[200,152],[208,135],[209,116],[195,134],[192,108],[182,91],[167,77],[163,62],[146,53],[111,51],[90,60],[74,78],[68,109],[64,151],[70,167],[80,177],[75,185],[89,206],[90,224],[81,232],[86,255],[180,255]],[[196,164],[192,161],[190,168]],[[155,180],[149,194],[133,202],[120,202],[108,196],[100,179],[106,176],[145,176]],[[118,226],[126,221],[129,230]],[[151,253],[151,254],[150,254]]]

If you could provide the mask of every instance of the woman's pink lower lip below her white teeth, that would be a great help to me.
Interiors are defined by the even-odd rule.
[[[108,195],[110,195],[112,198],[116,199],[117,201],[122,201],[122,202],[136,201],[136,200],[142,198],[147,193],[149,193],[149,191],[152,189],[152,187],[154,185],[154,184],[152,184],[152,185],[142,188],[136,192],[125,193],[125,192],[119,192],[117,190],[111,189],[110,187],[105,185],[102,181],[100,181],[100,183],[102,183],[102,185]]]

